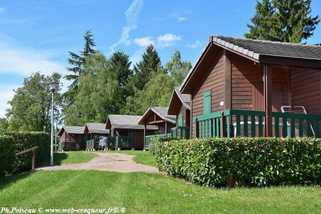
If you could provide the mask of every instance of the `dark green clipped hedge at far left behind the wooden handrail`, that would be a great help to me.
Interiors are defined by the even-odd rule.
[[[36,150],[36,165],[50,158],[50,134],[47,132],[7,132],[4,136],[13,138],[15,152],[39,146]],[[13,159],[12,173],[29,170],[32,167],[32,151]]]

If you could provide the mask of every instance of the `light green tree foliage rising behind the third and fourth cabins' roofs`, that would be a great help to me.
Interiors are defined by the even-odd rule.
[[[134,96],[127,97],[122,114],[142,115],[150,106],[168,106],[175,83],[164,73],[155,73],[143,90],[136,90]]]

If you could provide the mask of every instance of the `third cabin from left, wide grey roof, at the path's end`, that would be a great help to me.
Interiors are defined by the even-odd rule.
[[[111,149],[143,149],[144,133],[153,134],[157,126],[139,125],[141,116],[109,115],[105,128],[109,130],[107,147]]]

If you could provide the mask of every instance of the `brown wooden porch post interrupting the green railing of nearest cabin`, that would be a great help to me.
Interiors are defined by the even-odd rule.
[[[272,69],[264,66],[265,136],[272,137]]]

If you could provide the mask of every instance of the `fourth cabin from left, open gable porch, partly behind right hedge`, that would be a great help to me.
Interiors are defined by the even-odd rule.
[[[176,116],[168,115],[167,107],[149,107],[139,120],[138,124],[144,126],[144,149],[149,147],[150,138],[171,136],[171,129],[176,127]],[[157,126],[157,132],[150,134],[146,131],[148,125]]]

